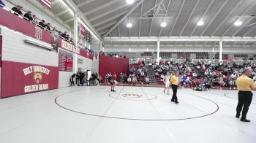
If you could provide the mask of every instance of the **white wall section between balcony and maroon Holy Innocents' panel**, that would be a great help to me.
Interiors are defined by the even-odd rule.
[[[1,35],[2,61],[59,66],[58,53],[25,42],[25,35],[7,28],[1,28]]]

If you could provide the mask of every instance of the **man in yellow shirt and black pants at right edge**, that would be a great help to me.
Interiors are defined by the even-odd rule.
[[[244,74],[241,77],[238,77],[236,80],[238,88],[238,105],[236,107],[236,117],[240,117],[240,113],[243,109],[241,122],[250,122],[250,120],[246,119],[246,115],[252,102],[252,90],[256,90],[255,82],[249,78],[251,75],[252,69],[246,68],[244,69]]]

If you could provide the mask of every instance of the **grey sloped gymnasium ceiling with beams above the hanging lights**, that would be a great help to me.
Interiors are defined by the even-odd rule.
[[[53,13],[65,24],[72,26],[71,15],[60,7],[59,0],[53,0]],[[73,1],[83,16],[100,36],[113,37],[174,37],[174,36],[239,36],[255,37],[256,17],[238,16],[256,14],[255,0],[164,0],[167,15],[172,18],[140,19],[148,10],[162,0],[135,0],[127,4],[126,0],[69,0]],[[58,7],[59,6],[59,7]],[[138,7],[136,7],[138,6]],[[63,8],[63,9],[61,9]],[[133,10],[133,11],[132,11]],[[130,12],[129,15],[127,15]],[[149,14],[154,14],[151,10]],[[59,14],[59,15],[58,15]],[[62,15],[61,15],[62,14]],[[197,22],[203,20],[203,26]],[[234,26],[237,20],[243,23]],[[165,21],[166,27],[160,24]],[[127,23],[132,28],[127,28]],[[110,31],[113,28],[113,31]],[[157,42],[104,42],[104,45],[156,45]],[[214,45],[217,42],[165,42],[166,45]],[[225,42],[225,45],[256,45],[256,42]]]

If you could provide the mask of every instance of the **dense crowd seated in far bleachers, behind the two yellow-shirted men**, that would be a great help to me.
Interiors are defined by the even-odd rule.
[[[252,61],[243,62],[192,62],[175,63],[171,61],[154,65],[155,75],[162,80],[167,72],[180,73],[181,86],[195,87],[196,90],[210,90],[211,88],[236,88],[236,79],[241,76],[244,68],[252,68],[252,77],[256,83],[255,64]]]

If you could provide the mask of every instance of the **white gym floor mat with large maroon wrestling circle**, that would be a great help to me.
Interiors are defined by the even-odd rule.
[[[256,100],[236,119],[236,90],[70,87],[0,100],[1,143],[255,143]],[[255,94],[255,93],[254,93]]]

